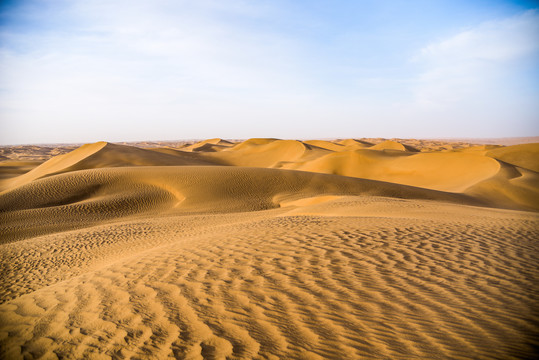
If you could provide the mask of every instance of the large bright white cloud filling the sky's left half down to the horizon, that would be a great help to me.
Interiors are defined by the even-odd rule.
[[[195,137],[207,131],[196,121],[245,122],[256,117],[250,108],[257,106],[277,114],[308,92],[294,40],[256,27],[245,31],[245,23],[271,12],[266,5],[238,0],[226,7],[219,1],[63,6],[53,11],[50,30],[1,34],[6,43],[24,44],[0,49],[0,115],[8,119],[2,141],[28,136],[30,124],[37,138],[55,135],[49,124],[75,133],[89,121],[96,134],[122,139],[122,128],[132,131],[148,119],[162,128],[173,122],[183,132],[176,137]],[[66,27],[58,28],[66,19]],[[108,130],[99,129],[107,123]]]

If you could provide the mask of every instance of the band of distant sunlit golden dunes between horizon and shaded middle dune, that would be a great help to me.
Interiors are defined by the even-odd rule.
[[[489,206],[539,210],[535,201],[539,190],[533,185],[539,183],[537,154],[539,144],[417,152],[396,141],[372,144],[354,139],[330,142],[254,138],[234,144],[215,138],[182,149],[140,149],[99,142],[56,156],[26,174],[2,180],[0,185],[9,190],[39,178],[84,169],[227,165],[392,182],[469,194],[485,200]],[[511,175],[520,174],[519,169],[526,172],[523,181]],[[505,195],[500,196],[499,192]]]

